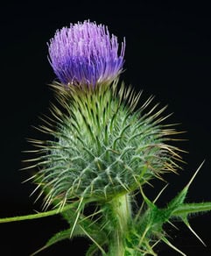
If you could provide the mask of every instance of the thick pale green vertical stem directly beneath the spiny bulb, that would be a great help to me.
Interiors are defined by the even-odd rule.
[[[125,252],[125,235],[131,219],[129,195],[119,196],[110,203],[112,214],[116,220],[109,244],[109,255],[123,256]]]

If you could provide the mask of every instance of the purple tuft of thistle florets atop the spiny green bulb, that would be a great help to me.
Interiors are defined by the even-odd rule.
[[[113,81],[123,70],[125,41],[118,53],[116,36],[89,20],[58,30],[48,46],[50,64],[64,84],[95,86]]]

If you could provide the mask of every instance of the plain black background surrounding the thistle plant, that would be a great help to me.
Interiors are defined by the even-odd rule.
[[[29,197],[34,186],[30,182],[21,183],[29,174],[18,170],[24,167],[22,151],[30,149],[26,138],[42,139],[43,135],[32,125],[40,124],[39,116],[48,113],[49,101],[53,100],[47,84],[55,75],[46,58],[46,42],[62,26],[88,18],[108,25],[120,41],[126,38],[122,79],[137,91],[144,89],[143,99],[155,95],[155,101],[161,106],[168,104],[166,113],[174,113],[168,121],[181,123],[178,129],[186,131],[183,138],[188,140],[177,146],[189,152],[183,155],[187,163],[179,175],[166,176],[170,185],[161,203],[165,204],[185,186],[204,159],[206,162],[186,200],[211,200],[211,18],[208,4],[184,2],[140,1],[126,5],[118,1],[96,4],[59,1],[48,5],[8,2],[1,6],[0,217],[25,215],[41,209],[42,202],[34,204],[36,197]],[[163,185],[158,184],[158,188]],[[147,188],[147,195],[152,198],[158,188]],[[180,231],[169,230],[174,238],[172,243],[187,255],[210,255],[211,215],[194,217],[191,224],[207,247],[183,224],[178,224]],[[60,217],[1,224],[0,254],[29,255],[65,227]],[[77,238],[53,245],[39,255],[84,255],[87,247],[88,241]],[[158,255],[179,253],[160,245]]]

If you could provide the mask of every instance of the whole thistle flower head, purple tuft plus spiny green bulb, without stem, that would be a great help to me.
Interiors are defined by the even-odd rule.
[[[37,143],[34,181],[47,191],[46,206],[108,201],[177,167],[177,149],[165,144],[174,131],[160,124],[164,109],[145,111],[150,98],[134,111],[139,94],[117,89],[124,46],[118,55],[116,37],[89,21],[62,28],[50,41],[50,63],[65,86],[54,85],[64,111],[53,107],[56,122],[41,126],[54,139]]]

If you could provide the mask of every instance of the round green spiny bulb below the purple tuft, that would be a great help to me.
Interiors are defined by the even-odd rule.
[[[35,141],[41,155],[33,179],[47,191],[46,206],[81,198],[107,201],[177,167],[177,148],[165,144],[175,131],[160,124],[165,108],[145,110],[152,97],[135,110],[140,93],[124,85],[117,89],[116,81],[95,89],[53,88],[63,110],[53,106],[56,125],[41,129],[54,139]]]

